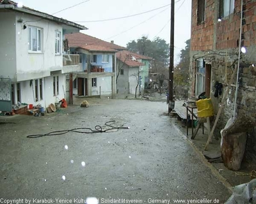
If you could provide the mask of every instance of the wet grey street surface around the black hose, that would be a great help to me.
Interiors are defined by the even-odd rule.
[[[165,102],[90,98],[90,107],[81,108],[83,100],[46,117],[0,117],[0,198],[224,203],[230,196],[176,120],[164,114]],[[74,128],[106,129],[110,120],[115,120],[113,126],[130,129],[26,137]]]

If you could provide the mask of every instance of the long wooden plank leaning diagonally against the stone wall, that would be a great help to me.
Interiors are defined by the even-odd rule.
[[[227,89],[225,91],[225,94],[224,94],[222,100],[221,100],[220,109],[219,109],[219,111],[217,113],[216,119],[214,121],[214,125],[212,126],[212,131],[211,131],[211,133],[210,133],[210,135],[208,137],[207,143],[205,144],[204,150],[208,149],[208,145],[209,145],[209,143],[210,143],[210,141],[212,139],[212,135],[213,135],[214,129],[216,128],[217,122],[218,122],[218,120],[220,118],[220,113],[222,111],[223,106],[225,105],[225,101],[226,101],[226,98],[227,98],[227,95],[228,95],[228,91],[229,91],[229,89],[231,87],[231,84],[233,84],[233,82],[234,82],[236,71],[237,71],[237,66],[236,66],[235,70],[233,71],[233,74],[232,74],[232,77],[230,78],[228,87],[227,87]]]

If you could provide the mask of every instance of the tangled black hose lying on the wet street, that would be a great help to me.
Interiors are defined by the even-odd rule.
[[[104,124],[105,126],[110,127],[108,129],[102,129],[101,126],[95,126],[94,129],[92,129],[92,128],[73,128],[73,129],[64,129],[64,130],[60,130],[60,131],[52,131],[52,132],[46,133],[46,134],[28,135],[27,138],[40,138],[42,136],[64,135],[68,132],[91,134],[91,133],[108,133],[109,131],[114,130],[114,129],[116,131],[118,131],[118,129],[130,129],[127,126],[111,126],[109,124],[111,122],[115,122],[115,120],[105,122],[105,124]],[[87,131],[80,131],[80,130],[87,130]]]

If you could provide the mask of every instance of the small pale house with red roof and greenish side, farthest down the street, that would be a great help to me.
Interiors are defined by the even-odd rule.
[[[116,59],[118,93],[142,94],[144,85],[148,85],[148,67],[152,58],[122,50],[116,53]]]

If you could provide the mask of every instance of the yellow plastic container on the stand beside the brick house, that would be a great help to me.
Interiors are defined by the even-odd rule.
[[[214,115],[212,101],[209,98],[196,101],[196,107],[198,117],[210,117]]]

